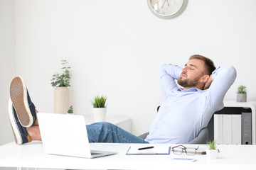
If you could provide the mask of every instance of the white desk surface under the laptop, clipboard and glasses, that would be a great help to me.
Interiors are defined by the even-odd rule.
[[[84,159],[45,154],[41,142],[26,145],[11,142],[0,147],[0,166],[46,169],[256,169],[256,145],[218,145],[218,159],[207,159],[206,155],[176,156],[172,152],[170,155],[126,155],[131,145],[142,144],[92,143],[91,149],[114,151],[118,154]],[[175,145],[171,145],[173,146]],[[200,147],[206,148],[206,145]],[[173,157],[189,157],[197,161],[172,161]]]

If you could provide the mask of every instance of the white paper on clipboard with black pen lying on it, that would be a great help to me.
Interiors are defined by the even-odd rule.
[[[145,149],[144,149],[145,148]],[[149,149],[146,149],[149,148]],[[142,147],[142,146],[132,146],[129,147],[127,155],[130,154],[170,154],[171,147],[166,145],[157,145],[154,147]]]

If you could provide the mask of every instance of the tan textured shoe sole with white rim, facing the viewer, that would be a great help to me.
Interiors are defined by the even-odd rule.
[[[26,85],[21,77],[15,77],[11,81],[10,97],[21,125],[26,128],[31,127],[33,116],[28,106]]]

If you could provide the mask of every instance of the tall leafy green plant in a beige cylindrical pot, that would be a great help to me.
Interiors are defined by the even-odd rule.
[[[53,74],[50,79],[50,84],[54,87],[54,113],[67,113],[70,107],[70,67],[67,64],[67,60],[61,60],[63,72]]]

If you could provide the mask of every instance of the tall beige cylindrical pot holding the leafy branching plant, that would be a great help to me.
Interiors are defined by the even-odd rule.
[[[68,113],[70,107],[70,92],[68,87],[55,87],[54,113]]]

